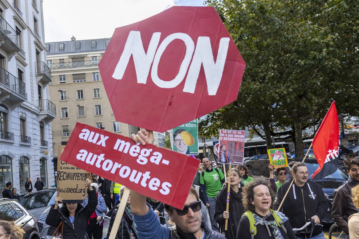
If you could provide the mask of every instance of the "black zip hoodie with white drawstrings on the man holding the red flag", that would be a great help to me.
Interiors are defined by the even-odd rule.
[[[279,188],[276,201],[278,205],[276,208],[278,208],[280,202],[283,200],[290,183],[291,182],[285,182]],[[309,190],[308,184],[311,190]],[[312,180],[308,180],[303,187],[298,187],[295,183],[293,183],[293,185],[294,191],[292,186],[280,209],[280,211],[288,217],[292,228],[301,228],[306,224],[307,220],[314,215],[317,215],[321,221],[328,210],[328,203],[324,196],[323,189]],[[303,231],[300,231],[300,236],[310,238],[311,235],[312,237],[319,235],[323,230],[321,226],[315,226],[313,233],[307,234],[306,232],[308,231],[311,231],[310,225]]]

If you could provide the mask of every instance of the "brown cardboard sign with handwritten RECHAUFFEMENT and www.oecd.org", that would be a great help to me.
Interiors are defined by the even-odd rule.
[[[59,145],[57,147],[59,159],[64,148],[65,145]],[[57,160],[56,188],[63,202],[82,203],[87,195],[85,181],[88,178],[91,178],[91,174],[85,170],[77,168],[65,161]]]

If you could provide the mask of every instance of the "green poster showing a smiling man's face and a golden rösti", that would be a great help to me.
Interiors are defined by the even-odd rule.
[[[198,120],[173,128],[172,150],[187,155],[198,155]]]

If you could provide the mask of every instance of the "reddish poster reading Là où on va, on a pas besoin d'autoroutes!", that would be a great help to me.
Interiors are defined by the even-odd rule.
[[[243,130],[219,131],[218,163],[243,165],[244,132]]]

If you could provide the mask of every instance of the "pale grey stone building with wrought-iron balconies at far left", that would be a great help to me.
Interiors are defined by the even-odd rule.
[[[42,0],[0,0],[0,190],[25,194],[29,177],[54,184]],[[1,196],[0,196],[1,197]]]

